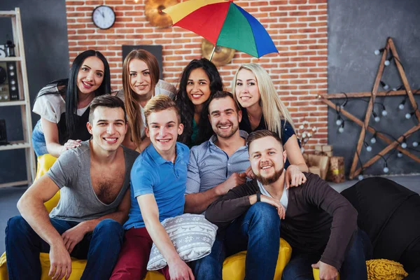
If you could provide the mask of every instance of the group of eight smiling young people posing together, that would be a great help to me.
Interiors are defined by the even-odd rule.
[[[225,258],[244,250],[246,279],[273,279],[280,237],[293,247],[283,279],[312,279],[312,267],[321,279],[367,279],[357,212],[307,173],[265,69],[241,65],[232,93],[207,59],[183,69],[178,90],[159,77],[156,58],[133,50],[111,92],[108,62],[87,50],[39,92],[34,150],[57,162],[8,221],[10,279],[39,279],[40,252],[52,279],[68,279],[70,256],[87,259],[82,279],[143,279],[153,243],[166,279],[221,279]],[[188,264],[161,224],[183,213],[219,228],[211,253]]]

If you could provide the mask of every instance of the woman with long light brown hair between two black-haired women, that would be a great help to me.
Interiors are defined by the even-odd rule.
[[[129,131],[124,146],[143,151],[150,144],[144,127],[144,106],[154,96],[164,94],[174,99],[174,85],[160,80],[158,60],[147,50],[132,50],[123,63],[123,90],[117,96],[125,103]]]

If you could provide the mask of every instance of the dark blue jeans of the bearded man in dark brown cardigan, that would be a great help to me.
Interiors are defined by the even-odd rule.
[[[346,253],[346,257],[339,271],[339,278],[342,280],[366,280],[367,269],[365,262],[363,244],[365,232],[358,230],[358,234],[353,240],[353,244]],[[292,251],[290,261],[283,270],[282,280],[313,280],[314,274],[311,265],[318,262],[321,258],[320,253],[307,253]]]

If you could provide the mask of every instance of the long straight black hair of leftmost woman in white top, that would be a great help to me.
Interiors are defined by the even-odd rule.
[[[109,64],[104,55],[97,50],[85,50],[80,53],[74,60],[71,65],[69,73],[69,81],[66,90],[66,127],[69,134],[76,130],[77,125],[77,105],[78,105],[78,87],[77,87],[77,75],[82,66],[83,61],[87,57],[98,57],[104,63],[104,80],[102,84],[99,85],[98,89],[95,90],[95,97],[110,93],[111,92],[111,73],[109,71]]]

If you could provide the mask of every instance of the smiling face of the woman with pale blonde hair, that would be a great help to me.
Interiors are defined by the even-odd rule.
[[[248,69],[241,69],[237,74],[235,85],[236,98],[242,107],[248,108],[260,101],[261,95],[257,78]]]

